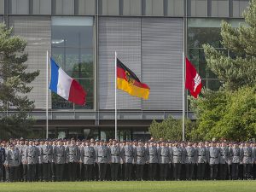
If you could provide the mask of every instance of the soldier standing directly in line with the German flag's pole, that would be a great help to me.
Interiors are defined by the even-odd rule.
[[[121,160],[121,148],[119,143],[113,139],[113,144],[110,146],[110,167],[111,167],[111,179],[112,181],[116,181],[118,178],[119,165]]]

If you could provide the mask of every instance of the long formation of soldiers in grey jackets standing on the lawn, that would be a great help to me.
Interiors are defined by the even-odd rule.
[[[0,141],[0,182],[255,179],[256,144]]]

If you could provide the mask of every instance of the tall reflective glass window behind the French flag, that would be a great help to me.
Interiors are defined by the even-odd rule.
[[[52,93],[52,108],[92,109],[94,103],[94,43],[91,17],[52,18],[52,57],[87,92],[86,105],[73,106]]]

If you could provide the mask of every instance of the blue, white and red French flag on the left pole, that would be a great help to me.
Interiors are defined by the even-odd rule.
[[[69,77],[55,61],[50,58],[51,79],[49,89],[69,102],[84,105],[86,92],[75,79]]]

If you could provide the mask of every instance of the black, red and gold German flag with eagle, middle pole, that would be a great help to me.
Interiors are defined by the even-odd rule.
[[[148,99],[149,90],[147,84],[141,83],[136,74],[133,73],[128,67],[126,67],[118,58],[116,58],[117,64],[117,88],[124,90],[131,96],[141,97]]]

